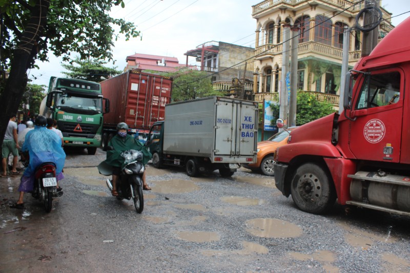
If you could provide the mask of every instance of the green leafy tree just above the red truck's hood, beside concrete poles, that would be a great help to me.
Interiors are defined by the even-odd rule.
[[[336,112],[330,102],[318,101],[312,93],[300,91],[297,93],[296,125],[300,126],[312,120]]]

